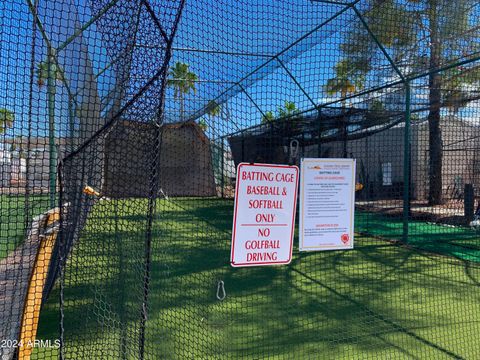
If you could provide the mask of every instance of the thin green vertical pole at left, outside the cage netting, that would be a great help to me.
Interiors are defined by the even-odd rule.
[[[49,198],[50,208],[55,207],[57,190],[57,148],[55,145],[55,53],[49,48],[47,58],[48,146],[49,146]]]

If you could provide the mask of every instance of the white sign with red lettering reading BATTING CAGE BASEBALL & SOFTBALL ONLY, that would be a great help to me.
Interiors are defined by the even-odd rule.
[[[292,260],[297,189],[296,166],[238,165],[232,266],[279,265]]]

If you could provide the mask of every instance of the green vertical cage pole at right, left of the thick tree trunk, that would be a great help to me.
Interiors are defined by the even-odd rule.
[[[403,241],[408,242],[408,221],[410,213],[410,82],[405,82],[405,132],[403,141]]]

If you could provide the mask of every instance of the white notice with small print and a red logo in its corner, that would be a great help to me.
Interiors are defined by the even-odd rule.
[[[302,159],[300,251],[353,249],[354,159]]]

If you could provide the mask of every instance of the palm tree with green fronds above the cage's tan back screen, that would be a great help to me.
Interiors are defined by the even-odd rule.
[[[196,93],[195,82],[198,80],[197,74],[189,70],[189,65],[177,61],[170,69],[167,86],[174,89],[174,97],[180,101],[180,120],[184,120],[185,95],[193,91]]]

